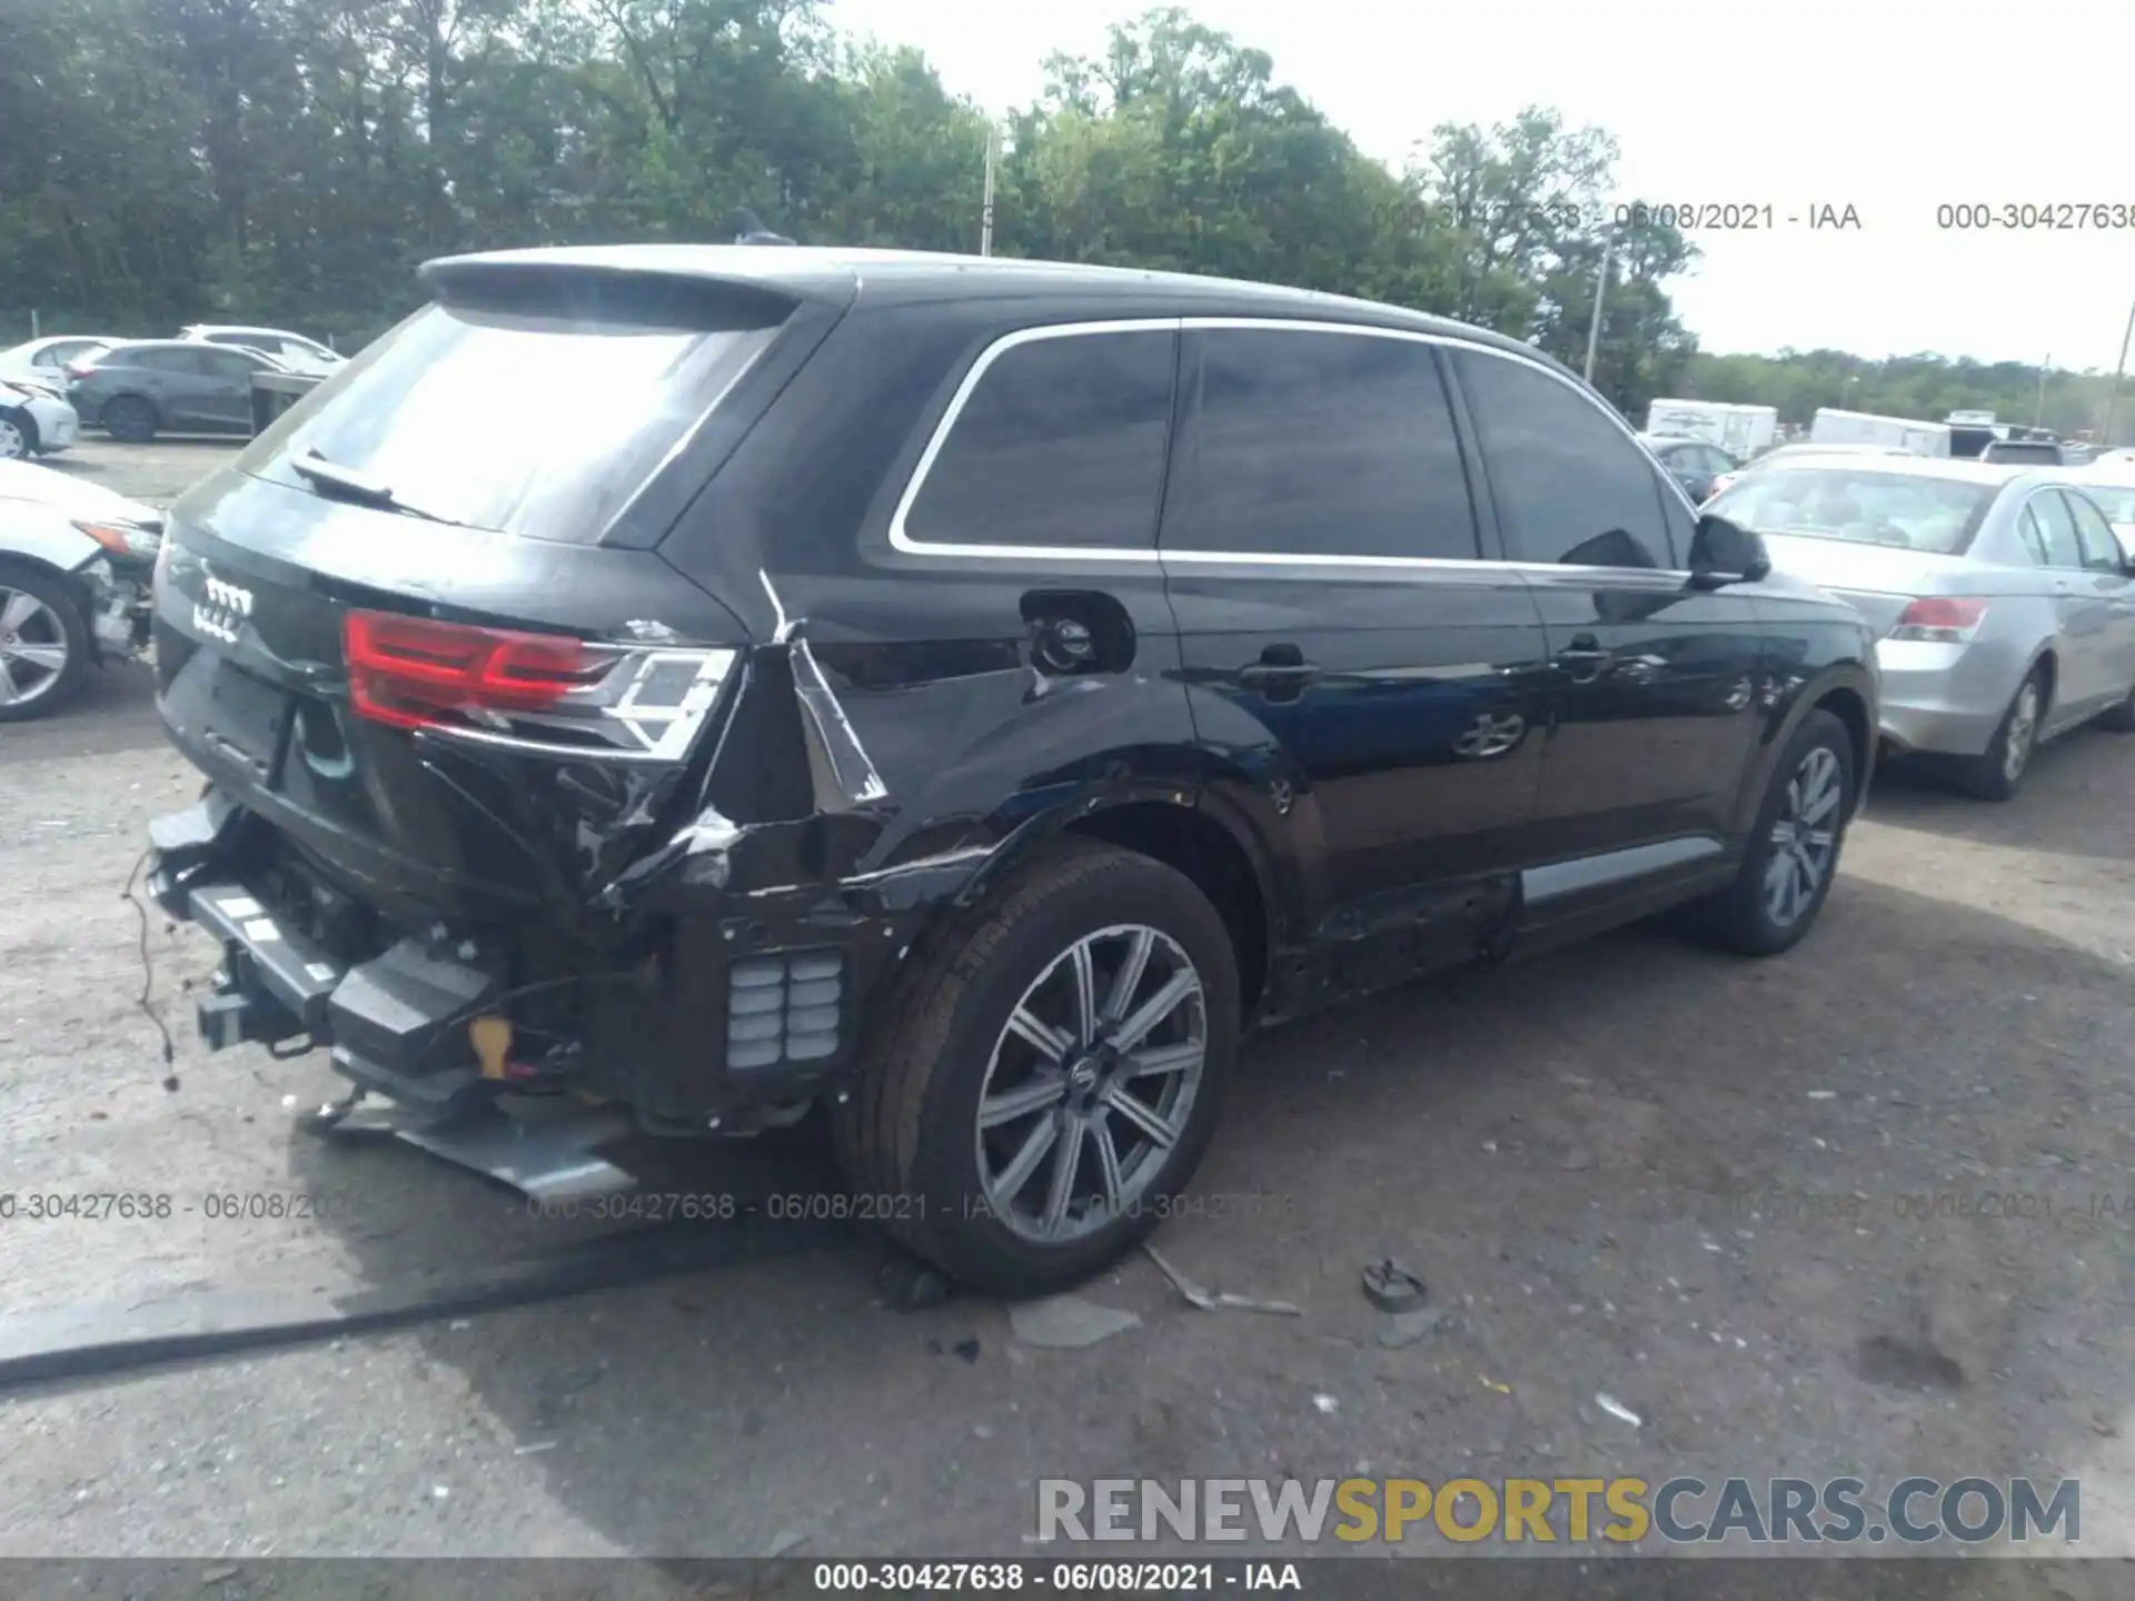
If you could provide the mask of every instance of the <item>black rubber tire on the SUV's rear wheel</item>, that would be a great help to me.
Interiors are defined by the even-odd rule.
[[[1176,1140],[1168,1151],[1149,1148],[1153,1166],[1132,1204],[1087,1208],[1076,1227],[1089,1232],[1078,1238],[1033,1240],[984,1200],[980,1097],[1025,993],[1078,941],[1121,924],[1155,931],[1198,971],[1206,1037],[1200,1080]],[[1193,1176],[1221,1114],[1238,1048],[1238,963],[1223,918],[1191,879],[1164,862],[1093,841],[1063,841],[914,950],[910,961],[914,969],[882,1008],[886,1037],[852,1097],[833,1112],[839,1166],[854,1195],[869,1198],[903,1247],[974,1289],[1055,1291],[1132,1251]],[[1095,1148],[1095,1140],[1076,1140],[1076,1153]],[[1127,1166],[1114,1146],[1117,1140],[1106,1146],[1114,1151],[1114,1168]],[[1033,1170],[1029,1180],[1035,1178]]]

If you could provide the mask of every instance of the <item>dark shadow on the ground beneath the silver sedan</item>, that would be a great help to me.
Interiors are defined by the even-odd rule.
[[[1889,760],[1877,766],[1868,815],[1977,845],[2037,850],[2052,839],[2062,854],[2135,860],[2135,839],[2105,826],[2124,805],[2131,751],[2124,734],[2077,728],[2039,747],[2022,792],[2005,805],[1958,794],[1932,760]]]

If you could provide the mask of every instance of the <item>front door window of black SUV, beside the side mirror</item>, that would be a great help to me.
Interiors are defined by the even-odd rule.
[[[1505,555],[1580,568],[1672,568],[1661,474],[1601,408],[1509,356],[1462,350],[1460,386]]]

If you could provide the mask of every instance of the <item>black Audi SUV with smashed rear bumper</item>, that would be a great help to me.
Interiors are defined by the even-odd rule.
[[[1832,886],[1870,634],[1524,344],[997,258],[423,282],[169,521],[213,1046],[820,1104],[1025,1291],[1155,1225],[1249,1023],[1667,907],[1770,954]]]

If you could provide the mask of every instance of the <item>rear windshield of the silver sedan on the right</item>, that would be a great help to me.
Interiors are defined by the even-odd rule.
[[[1751,474],[1706,510],[1759,534],[1958,555],[1979,529],[1994,489],[1857,467],[1772,467]]]

